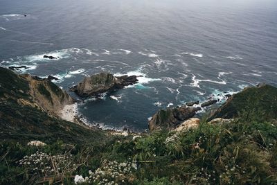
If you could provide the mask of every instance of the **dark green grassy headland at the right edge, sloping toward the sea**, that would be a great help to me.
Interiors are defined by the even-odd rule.
[[[277,118],[277,88],[271,85],[247,87],[238,94],[233,94],[215,111],[208,121],[214,118],[234,118],[239,116],[264,115],[269,120]]]

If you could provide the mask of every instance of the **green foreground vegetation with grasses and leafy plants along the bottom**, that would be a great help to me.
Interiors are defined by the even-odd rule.
[[[34,170],[34,166],[28,168],[17,163],[39,151],[52,156],[72,155],[69,161],[75,164],[74,170],[46,175],[49,181],[66,184],[73,184],[75,175],[88,177],[93,184],[96,171],[105,174],[95,176],[94,184],[105,179],[117,184],[274,184],[277,182],[276,141],[276,123],[245,118],[218,125],[202,121],[195,130],[177,133],[163,130],[136,139],[109,136],[101,143],[87,141],[69,145],[59,141],[31,147],[6,141],[1,143],[1,183],[42,181],[42,166]],[[109,165],[115,164],[111,165],[111,161],[118,164],[135,161],[136,168],[113,178]]]

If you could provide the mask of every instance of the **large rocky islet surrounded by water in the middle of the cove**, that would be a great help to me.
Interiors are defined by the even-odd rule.
[[[98,96],[107,91],[114,91],[127,85],[133,85],[136,82],[138,82],[136,76],[115,77],[111,73],[103,72],[84,78],[82,82],[71,87],[70,90],[81,97]]]

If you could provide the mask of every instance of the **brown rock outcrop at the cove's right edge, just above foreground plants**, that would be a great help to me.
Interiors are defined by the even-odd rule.
[[[152,116],[149,121],[149,130],[157,130],[161,128],[175,129],[181,122],[195,116],[200,107],[182,107],[161,109],[159,112]]]

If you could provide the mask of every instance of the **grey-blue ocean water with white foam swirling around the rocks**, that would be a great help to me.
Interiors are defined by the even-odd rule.
[[[158,109],[277,85],[277,1],[0,0],[0,65],[63,89],[100,71],[141,75],[78,106],[87,123],[141,131]]]

